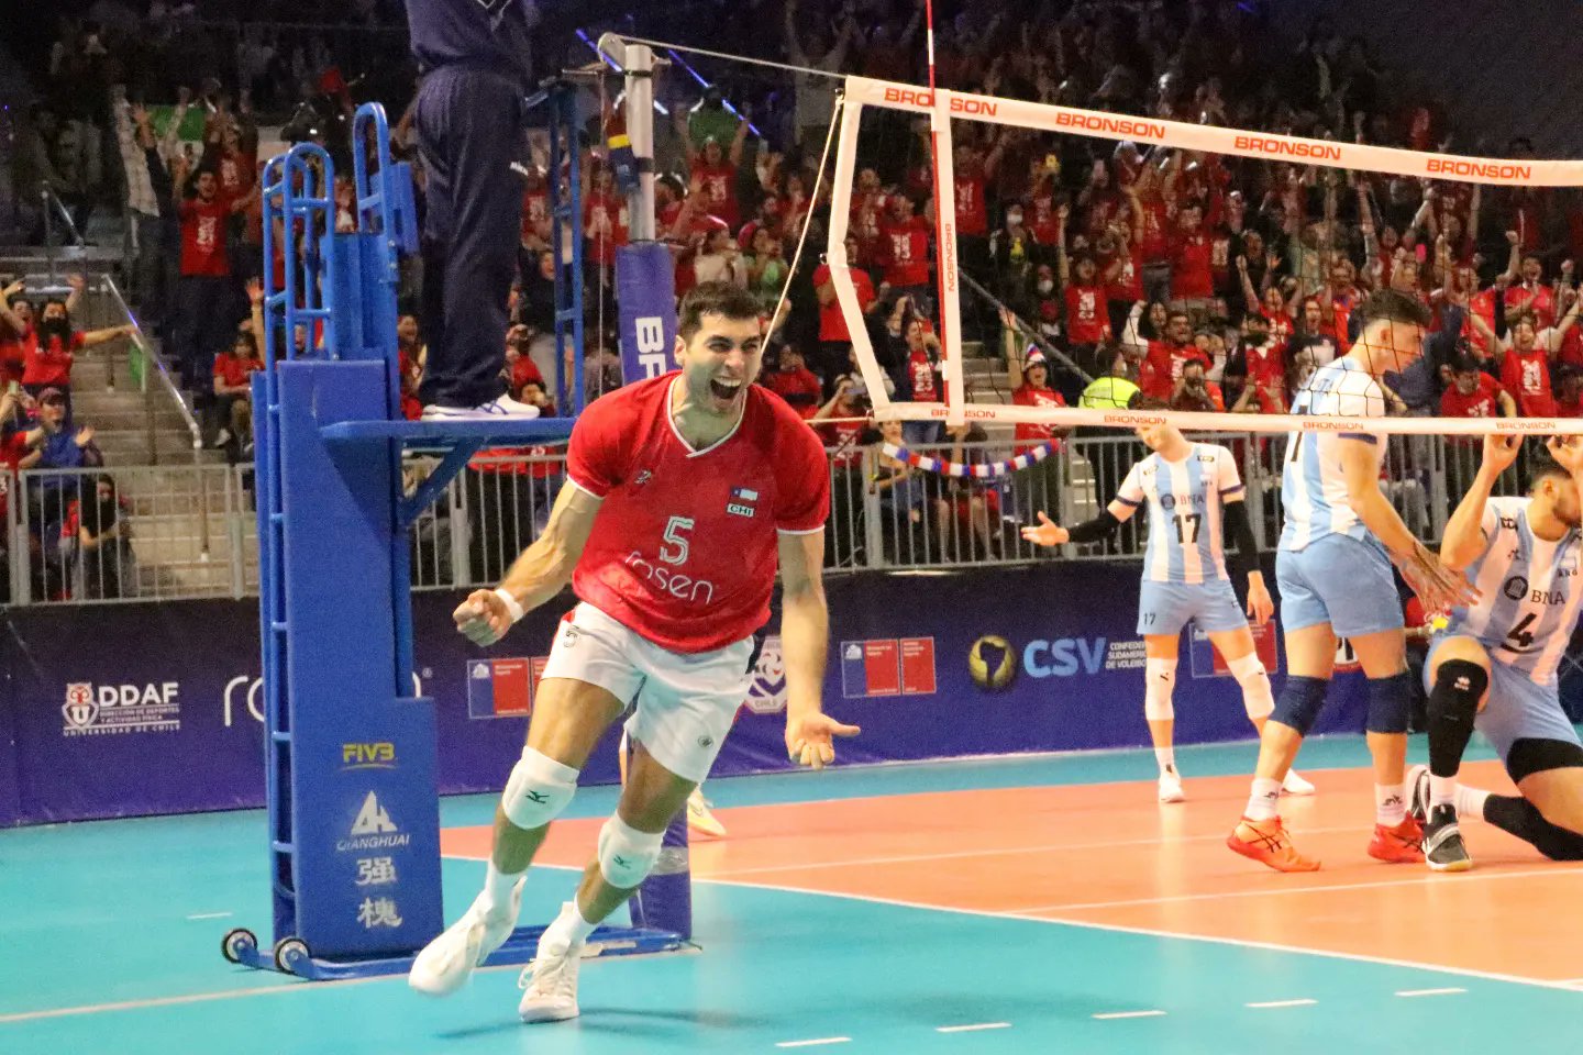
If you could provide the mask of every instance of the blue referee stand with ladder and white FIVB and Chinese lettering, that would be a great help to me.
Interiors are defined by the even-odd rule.
[[[402,418],[397,253],[418,231],[412,174],[391,161],[378,104],[356,112],[353,152],[356,233],[336,234],[321,147],[293,147],[263,177],[268,369],[252,384],[274,941],[260,947],[244,928],[222,941],[234,963],[309,979],[405,971],[445,925],[435,704],[415,690],[408,530],[481,448],[565,440],[573,424]],[[442,457],[407,495],[413,448]],[[684,846],[681,868],[651,879],[662,897],[644,887],[635,900],[647,925],[602,927],[595,947],[685,944],[690,906],[673,897]],[[516,930],[491,963],[532,959],[541,930]]]

